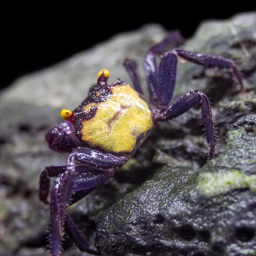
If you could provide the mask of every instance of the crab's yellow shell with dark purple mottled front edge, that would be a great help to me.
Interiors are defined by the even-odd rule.
[[[74,112],[73,133],[81,143],[114,154],[130,155],[153,126],[149,104],[121,82],[92,87]]]

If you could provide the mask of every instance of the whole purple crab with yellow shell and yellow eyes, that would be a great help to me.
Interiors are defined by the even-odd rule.
[[[214,157],[216,130],[207,96],[198,90],[190,91],[168,107],[175,87],[177,59],[182,57],[206,67],[233,69],[243,91],[241,74],[231,59],[182,48],[164,52],[169,44],[175,42],[183,42],[177,31],[168,34],[145,55],[149,101],[142,93],[134,62],[126,59],[124,66],[135,89],[119,79],[107,84],[109,71],[101,70],[97,84],[92,86],[88,97],[74,111],[63,109],[61,116],[66,121],[45,135],[51,149],[70,153],[65,165],[45,167],[40,176],[40,200],[50,205],[52,255],[60,255],[64,232],[81,251],[100,255],[87,242],[65,209],[111,178],[158,122],[171,120],[201,103],[202,124],[209,145],[208,161]],[[159,54],[162,55],[157,65],[156,55]],[[51,177],[56,179],[49,200]]]

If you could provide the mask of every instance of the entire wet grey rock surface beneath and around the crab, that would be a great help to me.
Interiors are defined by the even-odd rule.
[[[255,31],[256,13],[244,13],[203,22],[184,45],[234,59],[244,76],[242,94],[232,70],[178,65],[172,101],[193,89],[211,98],[216,158],[204,165],[208,146],[196,106],[159,124],[122,171],[67,209],[103,255],[256,254]],[[67,155],[52,152],[44,134],[61,122],[61,109],[87,96],[100,69],[110,70],[110,81],[130,83],[126,57],[138,61],[146,92],[145,49],[165,33],[147,25],[117,35],[1,91],[1,256],[50,255],[49,207],[38,200],[38,180],[44,166],[63,164]],[[88,255],[65,238],[63,255]]]

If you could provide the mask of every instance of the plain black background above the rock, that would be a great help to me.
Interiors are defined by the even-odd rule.
[[[1,5],[0,88],[23,74],[50,66],[116,33],[138,29],[146,23],[160,23],[167,30],[179,29],[185,37],[190,37],[202,20],[226,19],[253,10],[252,6],[241,6],[241,2],[236,6],[216,3],[199,6],[155,1],[139,7],[140,3],[33,1]]]

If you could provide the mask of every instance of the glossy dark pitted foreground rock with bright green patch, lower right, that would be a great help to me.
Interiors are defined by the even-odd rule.
[[[256,115],[200,172],[160,168],[97,223],[103,255],[255,255]],[[193,254],[192,254],[193,253]]]

